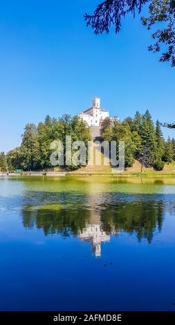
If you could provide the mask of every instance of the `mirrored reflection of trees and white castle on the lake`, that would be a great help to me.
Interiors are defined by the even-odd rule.
[[[163,211],[163,203],[159,201],[118,202],[97,206],[60,203],[24,207],[22,217],[25,228],[43,229],[46,236],[77,236],[88,241],[93,254],[100,257],[101,243],[109,242],[111,235],[120,232],[136,236],[139,242],[147,239],[151,243],[154,234],[161,231]]]

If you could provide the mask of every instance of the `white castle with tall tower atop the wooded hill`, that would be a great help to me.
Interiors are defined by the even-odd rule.
[[[104,120],[104,118],[109,118],[109,111],[101,109],[100,98],[94,97],[92,106],[78,114],[78,116],[82,121],[86,122],[89,127],[100,127],[102,120]]]

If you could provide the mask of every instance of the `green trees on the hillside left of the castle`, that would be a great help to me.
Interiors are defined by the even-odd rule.
[[[66,151],[66,136],[71,136],[73,142],[81,140],[88,146],[91,140],[90,129],[85,122],[76,116],[64,114],[62,118],[50,118],[46,116],[44,122],[38,125],[26,124],[21,138],[21,146],[2,152],[0,156],[1,171],[13,171],[23,169],[25,171],[48,169],[50,165],[50,144],[54,140],[62,141]],[[74,169],[75,166],[66,166],[67,169]]]

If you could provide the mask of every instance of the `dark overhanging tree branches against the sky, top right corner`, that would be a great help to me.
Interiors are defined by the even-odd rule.
[[[116,33],[120,32],[121,19],[128,13],[133,17],[136,10],[140,13],[145,3],[149,5],[149,17],[142,17],[142,24],[150,29],[157,23],[163,23],[163,28],[158,28],[151,37],[156,43],[149,46],[149,50],[159,52],[161,46],[166,48],[160,56],[161,62],[171,61],[175,66],[175,30],[174,30],[174,0],[106,0],[100,3],[93,15],[84,15],[86,26],[91,26],[96,35],[103,32],[109,33],[111,25],[115,26]]]

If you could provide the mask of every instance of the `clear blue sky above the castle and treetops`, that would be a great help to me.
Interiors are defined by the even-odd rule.
[[[98,2],[1,1],[0,151],[20,144],[26,123],[75,115],[95,94],[121,119],[149,109],[154,120],[175,122],[175,70],[149,53],[138,17],[126,17],[119,35],[86,28],[84,12]]]

